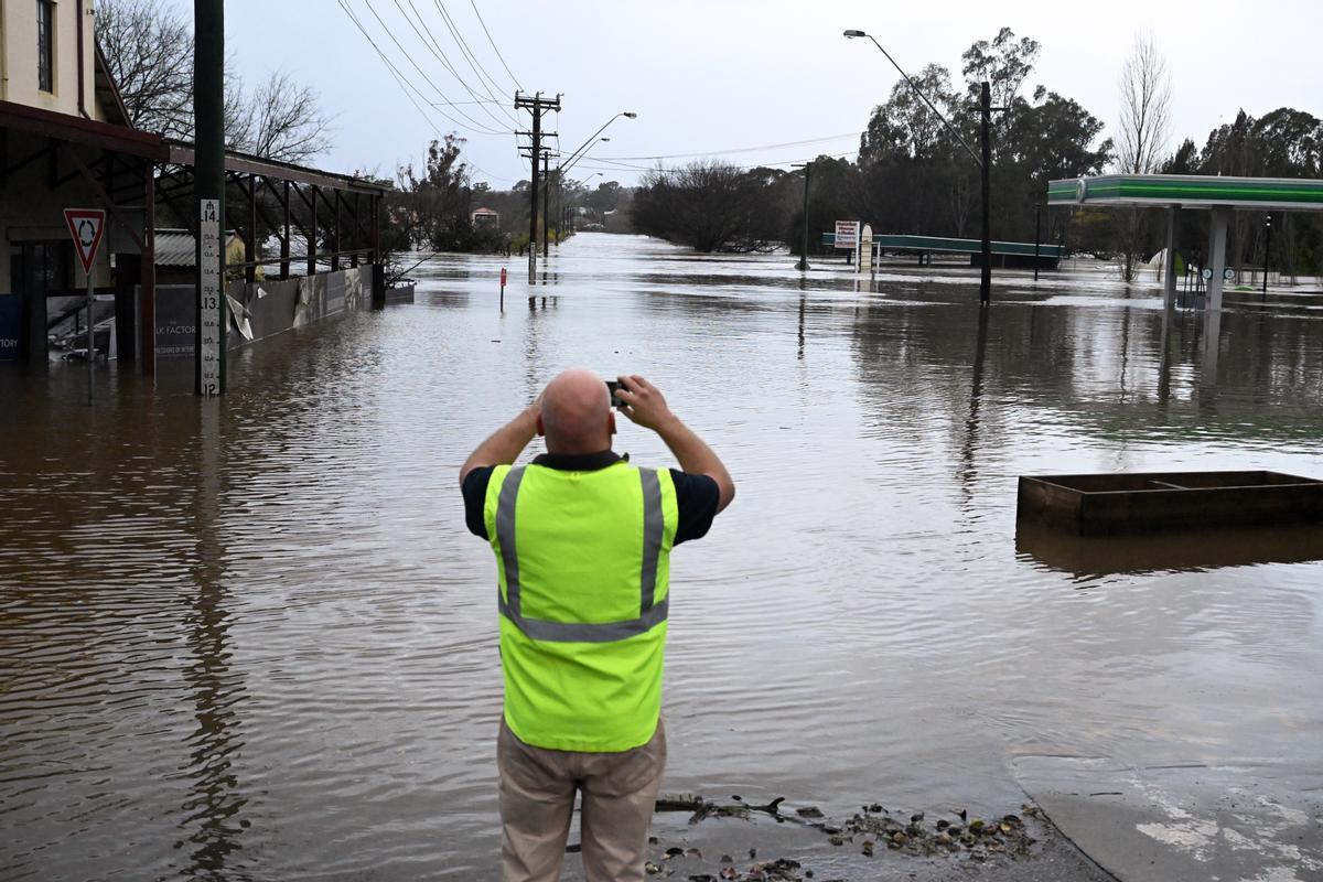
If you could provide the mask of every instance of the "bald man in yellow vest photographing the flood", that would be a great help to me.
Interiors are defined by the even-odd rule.
[[[576,792],[589,881],[643,878],[665,768],[669,554],[705,536],[736,495],[721,460],[643,377],[620,377],[615,403],[680,469],[617,455],[611,391],[568,370],[459,471],[468,529],[491,542],[500,586],[505,882],[560,878]],[[546,452],[513,467],[534,434]]]

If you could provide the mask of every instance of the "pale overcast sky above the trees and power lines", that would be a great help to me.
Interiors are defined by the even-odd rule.
[[[192,3],[171,1],[192,16]],[[386,36],[369,1],[406,52]],[[245,78],[257,81],[274,67],[284,67],[316,86],[323,104],[339,115],[335,148],[318,165],[389,173],[398,163],[419,161],[433,138],[455,131],[467,138],[464,155],[475,167],[475,180],[504,189],[528,177],[507,115],[513,112],[515,83],[470,0],[344,3],[422,95],[396,83],[337,0],[225,4],[229,49]],[[564,110],[558,119],[550,118],[550,126],[560,132],[566,152],[617,111],[638,112],[636,120],[613,123],[606,131],[611,143],[597,145],[574,169],[578,175],[572,175],[603,171],[603,179],[595,181],[636,180],[636,169],[610,165],[603,161],[607,157],[716,153],[811,139],[833,140],[724,156],[741,165],[786,165],[819,153],[853,156],[871,108],[885,99],[897,75],[871,42],[844,40],[841,30],[847,28],[875,34],[909,71],[938,62],[959,81],[960,53],[1007,25],[1017,36],[1043,44],[1027,93],[1041,83],[1074,98],[1109,131],[1117,119],[1122,62],[1135,33],[1151,30],[1172,74],[1171,149],[1187,136],[1203,145],[1209,130],[1234,119],[1241,107],[1261,115],[1291,106],[1323,116],[1323,53],[1318,42],[1323,7],[1303,0],[476,3],[517,82],[528,91],[562,93]],[[401,9],[410,16],[419,13],[439,53],[425,48]],[[479,86],[486,81],[468,66],[442,9],[501,91]],[[427,30],[422,33],[426,37]],[[482,93],[493,93],[504,106],[427,107],[429,122],[410,95],[419,104],[423,97],[431,102],[474,100],[438,54],[475,93],[483,98]],[[527,112],[520,116],[527,127]],[[652,164],[646,159],[619,161]]]

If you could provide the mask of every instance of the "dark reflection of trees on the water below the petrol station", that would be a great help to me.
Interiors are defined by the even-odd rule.
[[[1310,415],[1323,395],[1323,335],[1316,321],[1224,313],[1220,382],[1209,386],[1200,382],[1203,312],[1175,313],[1164,337],[1160,309],[991,308],[982,394],[1013,402],[1021,417],[1025,409],[1037,409],[1045,422],[1065,419],[1103,435],[1146,427],[1185,431],[1204,422],[1236,435],[1323,434]],[[970,370],[979,352],[976,309],[865,300],[856,309],[852,335],[869,422],[945,423],[953,447],[962,448]],[[995,427],[1009,427],[1003,410],[979,415],[984,442]]]

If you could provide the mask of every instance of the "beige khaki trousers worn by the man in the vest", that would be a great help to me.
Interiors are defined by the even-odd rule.
[[[648,822],[665,770],[665,731],[619,754],[581,754],[525,744],[501,717],[501,874],[505,882],[556,882],[581,795],[579,838],[589,882],[639,882]]]

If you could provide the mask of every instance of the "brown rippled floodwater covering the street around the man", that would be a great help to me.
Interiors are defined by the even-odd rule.
[[[1323,534],[1015,525],[1021,473],[1323,477],[1323,296],[1230,295],[1209,352],[1098,270],[980,315],[967,268],[583,234],[533,303],[505,262],[500,315],[501,263],[237,353],[221,402],[0,370],[0,875],[492,877],[495,565],[456,469],[576,365],[648,377],[740,488],[672,559],[664,789],[1015,808],[1044,755],[1323,782]]]

